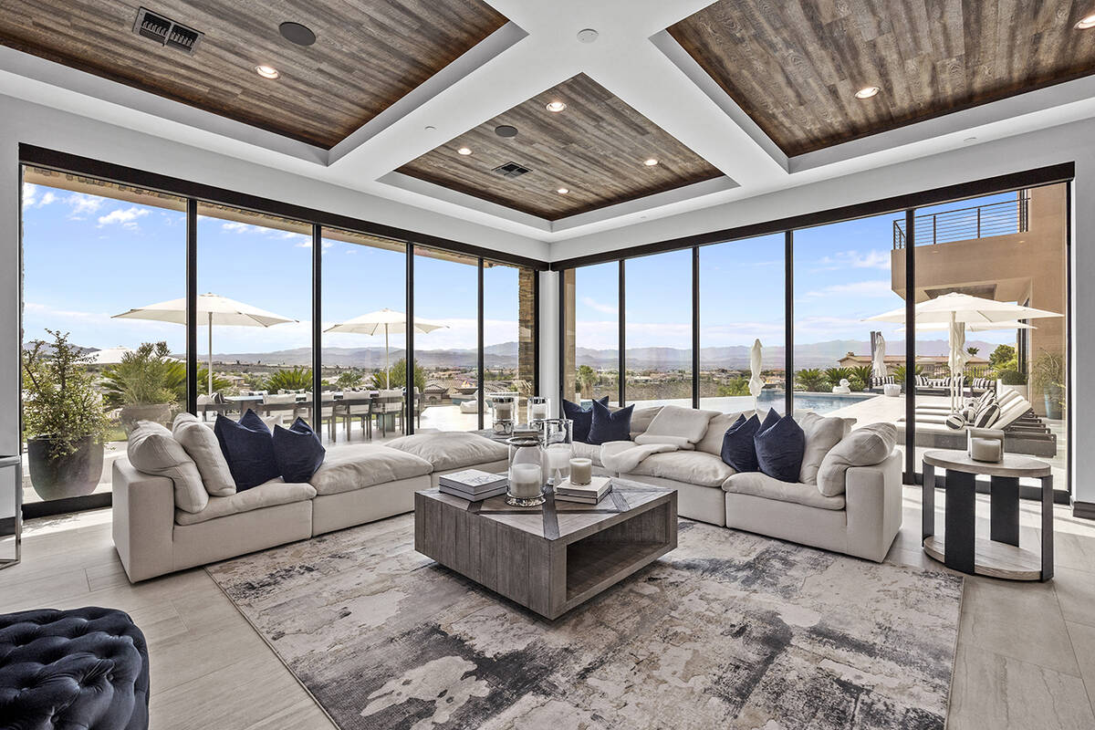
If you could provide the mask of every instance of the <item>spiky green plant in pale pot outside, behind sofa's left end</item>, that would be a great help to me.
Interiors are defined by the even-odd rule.
[[[174,386],[180,364],[166,343],[145,343],[106,370],[106,401],[122,407],[119,418],[126,433],[139,420],[165,424],[171,419],[171,408],[177,403]]]

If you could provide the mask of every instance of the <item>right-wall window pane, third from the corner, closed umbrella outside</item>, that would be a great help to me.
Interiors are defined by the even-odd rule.
[[[700,248],[700,407],[753,407],[751,350],[761,347],[758,407],[785,410],[784,234]]]

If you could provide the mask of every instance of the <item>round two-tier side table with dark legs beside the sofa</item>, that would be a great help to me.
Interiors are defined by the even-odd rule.
[[[947,471],[945,531],[935,534],[935,470]],[[977,475],[990,478],[989,540],[977,537]],[[1019,477],[1041,483],[1041,553],[1019,547]],[[924,553],[948,568],[1010,580],[1053,577],[1053,476],[1049,464],[1004,454],[1001,462],[979,462],[965,451],[924,453]]]

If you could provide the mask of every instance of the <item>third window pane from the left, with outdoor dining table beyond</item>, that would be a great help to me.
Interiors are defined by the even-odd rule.
[[[322,241],[323,438],[397,434],[402,406],[385,413],[382,391],[406,387],[406,244],[332,228]]]

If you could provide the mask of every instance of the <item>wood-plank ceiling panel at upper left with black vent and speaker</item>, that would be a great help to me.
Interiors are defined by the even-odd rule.
[[[0,43],[331,148],[506,23],[480,0],[154,0],[193,56],[132,32],[140,0],[4,0]],[[302,23],[311,46],[281,37]],[[255,66],[276,68],[266,80]]]

